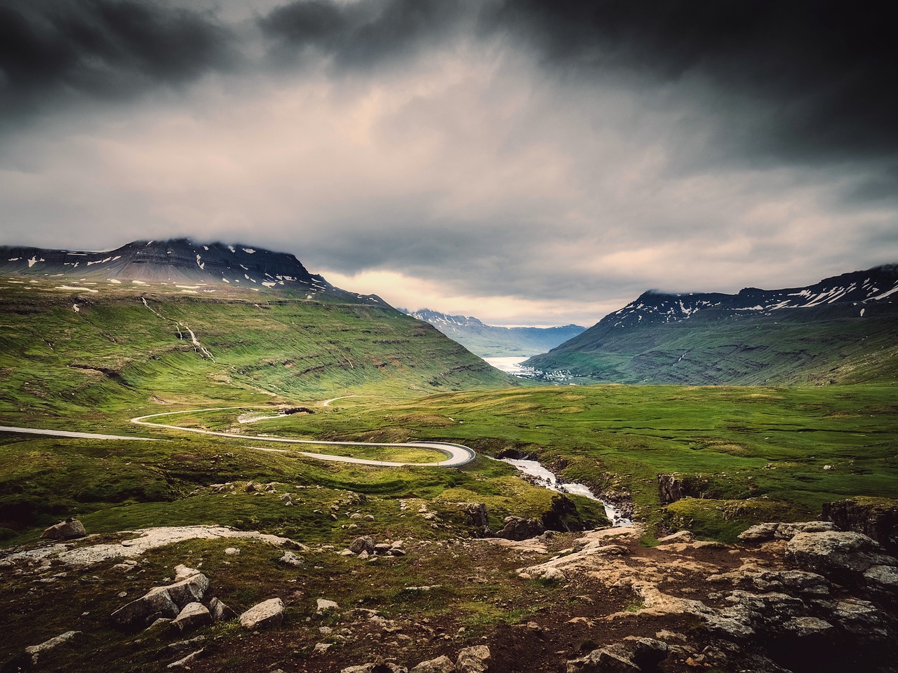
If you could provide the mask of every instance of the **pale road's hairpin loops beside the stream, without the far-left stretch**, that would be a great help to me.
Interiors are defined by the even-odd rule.
[[[332,400],[329,400],[332,401]],[[334,446],[398,446],[412,447],[416,449],[436,449],[445,453],[447,459],[438,463],[394,463],[386,460],[365,460],[350,458],[348,456],[331,456],[329,453],[312,453],[309,451],[289,451],[284,449],[261,449],[260,447],[252,447],[257,450],[273,451],[277,453],[299,453],[308,458],[331,460],[341,463],[355,463],[357,465],[373,465],[379,468],[401,468],[405,466],[417,466],[421,468],[459,468],[467,465],[471,460],[477,457],[474,450],[462,444],[452,444],[445,441],[405,441],[405,442],[375,442],[375,441],[327,441],[327,440],[295,440],[286,437],[263,437],[260,435],[234,434],[234,433],[218,433],[214,430],[200,430],[199,428],[185,428],[180,425],[169,425],[163,423],[152,423],[147,418],[159,418],[160,416],[170,416],[177,414],[198,414],[205,411],[229,411],[232,409],[270,409],[269,406],[216,406],[208,409],[187,409],[185,411],[166,411],[162,414],[150,414],[145,416],[137,416],[131,419],[131,423],[138,425],[146,425],[154,428],[167,428],[169,430],[180,430],[183,433],[212,434],[218,437],[228,437],[230,439],[242,439],[253,441],[277,441],[285,444],[315,444],[315,445],[334,445]],[[273,409],[272,409],[273,410]]]

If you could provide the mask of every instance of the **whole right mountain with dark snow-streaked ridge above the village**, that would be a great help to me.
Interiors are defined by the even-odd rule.
[[[898,265],[785,290],[652,291],[524,364],[581,382],[891,381],[896,300]]]

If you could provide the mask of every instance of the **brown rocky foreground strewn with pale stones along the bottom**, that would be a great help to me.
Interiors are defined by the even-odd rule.
[[[345,548],[220,527],[141,533],[0,558],[4,576],[22,588],[7,614],[30,612],[35,622],[59,625],[53,638],[13,645],[3,670],[83,669],[110,647],[108,637],[92,636],[92,624],[121,633],[120,647],[152,649],[149,663],[118,666],[128,670],[223,670],[237,653],[243,670],[286,673],[898,670],[898,560],[873,538],[829,521],[762,524],[745,531],[739,546],[681,531],[652,548],[639,545],[636,528],[550,531],[520,541],[361,537]],[[159,578],[166,581],[142,576],[152,575],[142,555],[154,545],[190,538],[233,545],[222,547],[228,565],[239,563],[241,546],[267,546],[279,572],[294,579],[263,601],[239,605],[240,588],[229,582],[217,590],[215,573],[180,564]],[[345,564],[334,566],[345,568],[335,578],[381,568],[383,581],[438,565],[444,570],[432,584],[400,590],[436,596],[448,609],[427,604],[426,616],[408,614],[349,602],[321,585],[296,590],[325,563]],[[115,609],[67,617],[70,625],[60,619],[64,608],[40,600],[66,581],[100,591],[104,573],[126,575],[145,591],[122,592]],[[510,597],[502,618],[459,625],[456,583],[502,584]],[[77,607],[66,614],[77,615]]]

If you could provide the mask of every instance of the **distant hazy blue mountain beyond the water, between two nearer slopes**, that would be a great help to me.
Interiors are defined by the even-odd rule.
[[[485,325],[476,318],[450,316],[436,310],[401,310],[412,318],[430,323],[446,337],[457,341],[480,357],[543,353],[585,330],[579,325],[564,325],[557,328],[500,328]]]

